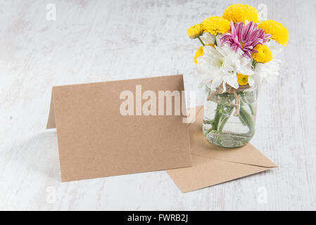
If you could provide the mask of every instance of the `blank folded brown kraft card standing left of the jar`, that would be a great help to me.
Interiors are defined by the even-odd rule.
[[[184,91],[182,75],[53,86],[46,128],[56,127],[61,180],[191,167],[185,116],[158,115],[158,107],[144,115],[148,96],[167,107],[158,103],[160,91]],[[129,97],[134,106],[122,107]]]

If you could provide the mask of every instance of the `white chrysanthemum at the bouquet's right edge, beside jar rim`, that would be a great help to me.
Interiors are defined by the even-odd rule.
[[[281,60],[272,59],[268,63],[256,63],[254,69],[254,75],[249,77],[249,85],[254,86],[261,84],[272,84],[277,82],[277,77],[279,76],[279,65],[281,64]]]

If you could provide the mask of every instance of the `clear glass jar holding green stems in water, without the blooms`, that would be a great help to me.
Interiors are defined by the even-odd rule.
[[[203,120],[206,139],[225,148],[245,146],[255,134],[258,88],[210,96],[212,92],[206,85]]]

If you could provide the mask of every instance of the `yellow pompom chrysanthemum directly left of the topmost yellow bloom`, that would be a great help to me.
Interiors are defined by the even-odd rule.
[[[202,26],[204,28],[204,32],[208,32],[213,35],[217,35],[218,33],[225,34],[230,29],[229,21],[220,16],[206,18],[203,20]]]

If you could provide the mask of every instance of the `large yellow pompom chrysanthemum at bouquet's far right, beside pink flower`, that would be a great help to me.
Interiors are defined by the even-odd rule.
[[[289,41],[289,31],[277,21],[265,20],[258,25],[258,28],[265,30],[266,34],[272,34],[272,39],[283,46]]]

